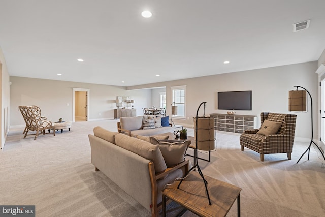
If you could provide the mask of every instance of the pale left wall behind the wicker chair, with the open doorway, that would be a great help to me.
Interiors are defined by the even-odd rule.
[[[24,125],[24,120],[18,110],[20,105],[37,105],[41,108],[42,116],[50,120],[72,120],[73,117],[73,88],[90,89],[89,120],[114,119],[116,96],[129,96],[136,100],[134,107],[137,115],[143,115],[142,108],[148,106],[151,90],[126,90],[125,87],[55,81],[10,76],[10,112],[11,126]],[[150,101],[150,100],[149,100]],[[151,102],[150,102],[151,103]],[[69,104],[69,105],[67,105]],[[101,115],[100,115],[101,113]]]

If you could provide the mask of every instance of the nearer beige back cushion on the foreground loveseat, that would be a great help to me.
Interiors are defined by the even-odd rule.
[[[152,161],[156,173],[167,169],[163,154],[156,145],[122,133],[115,136],[115,142],[116,145]]]

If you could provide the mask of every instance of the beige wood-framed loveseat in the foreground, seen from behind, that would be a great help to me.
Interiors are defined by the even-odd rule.
[[[93,131],[94,135],[88,137],[95,171],[103,172],[151,211],[152,216],[158,216],[162,205],[161,190],[185,175],[189,160],[167,167],[157,145],[101,127],[95,127]]]

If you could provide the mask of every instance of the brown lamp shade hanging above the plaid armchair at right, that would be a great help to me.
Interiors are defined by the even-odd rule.
[[[307,111],[307,91],[289,91],[289,111]]]

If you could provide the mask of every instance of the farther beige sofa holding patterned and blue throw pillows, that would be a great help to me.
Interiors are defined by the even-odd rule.
[[[142,135],[152,136],[163,133],[173,133],[175,128],[171,125],[166,127],[155,127],[154,129],[143,129],[143,119],[153,118],[154,115],[144,115],[136,117],[120,117],[120,122],[117,122],[117,131],[119,133],[125,133],[129,136]],[[158,117],[159,118],[159,117]],[[166,118],[166,117],[165,117]],[[167,117],[168,118],[168,117]],[[154,120],[155,122],[161,121],[160,119]],[[155,123],[157,126],[157,123]],[[159,125],[159,124],[158,124]]]

